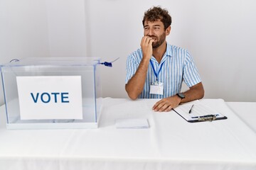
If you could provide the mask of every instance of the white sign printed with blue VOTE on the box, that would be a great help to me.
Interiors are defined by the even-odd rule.
[[[16,77],[21,120],[82,119],[80,76]]]

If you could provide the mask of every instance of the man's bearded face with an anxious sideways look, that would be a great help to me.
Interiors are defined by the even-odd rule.
[[[166,31],[164,30],[164,23],[160,20],[144,23],[144,36],[149,36],[154,39],[153,48],[159,47],[166,40]]]

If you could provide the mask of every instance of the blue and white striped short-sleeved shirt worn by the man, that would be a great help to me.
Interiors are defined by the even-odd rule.
[[[127,57],[127,77],[126,84],[131,79],[139,67],[139,63],[142,61],[142,49],[132,52]],[[149,63],[149,68],[146,74],[146,81],[142,94],[138,98],[166,98],[174,96],[181,92],[181,85],[184,81],[188,87],[196,85],[201,82],[201,78],[198,74],[198,69],[193,62],[193,58],[187,50],[176,47],[174,45],[166,45],[166,52],[161,59],[161,62],[156,61],[152,56],[151,62],[154,65],[156,72],[159,72],[161,64],[163,67],[159,72],[158,79],[161,83],[164,83],[164,94],[149,94],[150,85],[156,82],[156,76]]]

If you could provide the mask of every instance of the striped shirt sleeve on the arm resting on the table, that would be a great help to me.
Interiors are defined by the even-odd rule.
[[[188,52],[186,52],[185,65],[183,67],[183,79],[188,87],[201,82],[196,64],[193,62],[193,58]]]

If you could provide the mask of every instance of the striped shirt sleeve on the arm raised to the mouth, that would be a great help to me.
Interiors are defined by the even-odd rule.
[[[129,79],[131,79],[134,76],[138,67],[139,67],[139,63],[136,62],[136,60],[134,59],[134,56],[129,55],[127,57],[127,67],[126,67],[127,76],[126,76],[126,79],[125,79],[125,84],[127,84]]]

